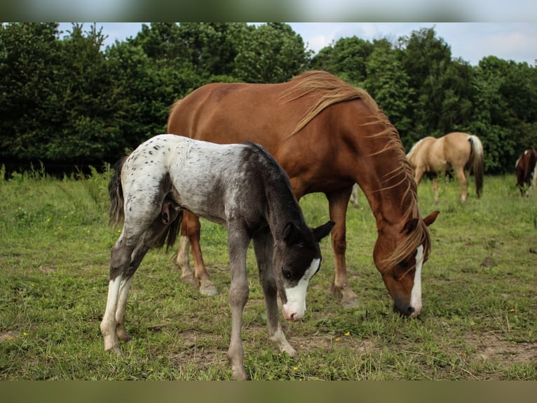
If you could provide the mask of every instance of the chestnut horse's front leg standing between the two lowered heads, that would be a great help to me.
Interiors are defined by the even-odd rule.
[[[332,282],[332,294],[338,298],[343,308],[355,308],[359,298],[348,284],[345,252],[346,241],[346,215],[348,199],[351,197],[353,188],[337,190],[326,194],[329,204],[330,220],[336,225],[332,230],[332,247],[334,248],[334,280]]]

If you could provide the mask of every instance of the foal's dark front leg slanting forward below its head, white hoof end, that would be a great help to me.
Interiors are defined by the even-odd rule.
[[[287,342],[278,320],[278,288],[272,267],[273,239],[269,230],[254,237],[254,251],[259,269],[259,280],[265,297],[266,326],[269,331],[269,340],[276,345],[280,352],[286,352],[291,357],[297,357],[297,350],[294,350]]]

